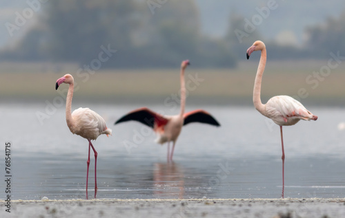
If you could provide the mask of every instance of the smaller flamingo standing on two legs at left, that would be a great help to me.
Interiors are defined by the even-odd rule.
[[[90,147],[95,153],[95,197],[97,193],[97,151],[92,145],[91,140],[96,140],[99,135],[106,134],[107,136],[111,135],[111,129],[106,127],[106,121],[99,116],[98,113],[92,111],[88,108],[79,107],[70,113],[74,89],[74,79],[70,74],[59,78],[57,80],[55,89],[59,88],[61,83],[67,83],[68,94],[66,99],[66,122],[67,126],[73,134],[80,135],[83,138],[88,140],[88,161],[86,162],[88,168],[90,166]],[[88,199],[88,170],[86,172],[86,199]]]

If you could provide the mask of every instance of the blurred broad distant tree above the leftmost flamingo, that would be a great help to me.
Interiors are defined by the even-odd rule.
[[[43,25],[48,27],[45,50],[59,61],[84,63],[95,58],[101,45],[117,50],[131,47],[140,25],[137,1],[50,1]]]

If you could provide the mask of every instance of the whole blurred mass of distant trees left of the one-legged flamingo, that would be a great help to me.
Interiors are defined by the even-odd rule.
[[[233,67],[222,39],[201,34],[195,0],[166,1],[152,14],[146,1],[48,1],[37,25],[0,58],[88,65],[101,45],[117,50],[102,67]]]

